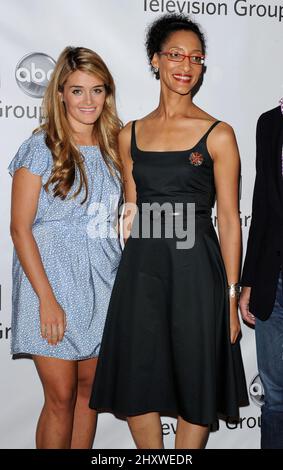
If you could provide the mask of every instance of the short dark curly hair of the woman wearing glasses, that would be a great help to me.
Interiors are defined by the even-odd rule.
[[[206,41],[199,25],[192,21],[188,16],[182,14],[167,14],[157,18],[151,23],[146,32],[145,46],[147,51],[150,69],[159,80],[159,72],[154,70],[151,64],[152,58],[156,52],[161,51],[163,44],[169,36],[176,31],[192,31],[200,40],[202,52],[205,54]]]

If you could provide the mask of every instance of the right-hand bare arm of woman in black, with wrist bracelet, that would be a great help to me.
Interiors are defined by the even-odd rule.
[[[217,196],[217,220],[220,249],[228,284],[239,282],[241,259],[241,225],[239,217],[240,157],[233,129],[222,123],[209,137],[209,148],[214,160],[214,178]],[[234,343],[240,332],[238,300],[230,298],[230,336]]]

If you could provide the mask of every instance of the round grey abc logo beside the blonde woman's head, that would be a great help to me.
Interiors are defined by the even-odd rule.
[[[16,66],[16,82],[27,95],[42,98],[54,66],[55,60],[47,54],[27,54]]]

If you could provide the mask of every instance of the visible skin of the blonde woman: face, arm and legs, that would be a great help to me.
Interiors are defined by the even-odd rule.
[[[101,80],[85,72],[73,72],[63,93],[59,93],[59,99],[65,102],[67,119],[77,144],[96,144],[93,137],[94,123],[105,101]],[[32,234],[41,184],[41,177],[31,174],[26,168],[20,168],[15,173],[11,235],[25,274],[39,298],[41,335],[56,348],[68,324],[66,314],[48,281]],[[69,361],[33,356],[33,360],[45,397],[37,426],[37,448],[91,448],[96,429],[96,412],[89,408],[88,403],[97,358]]]

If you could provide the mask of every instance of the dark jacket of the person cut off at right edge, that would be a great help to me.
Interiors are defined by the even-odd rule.
[[[283,265],[283,116],[280,106],[260,116],[256,144],[252,221],[241,284],[252,288],[249,310],[266,320],[273,309]]]

